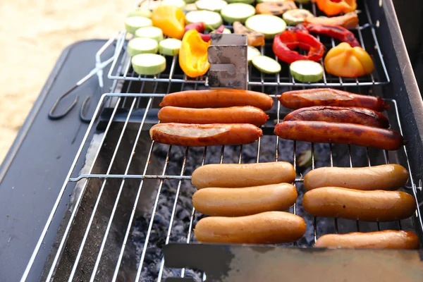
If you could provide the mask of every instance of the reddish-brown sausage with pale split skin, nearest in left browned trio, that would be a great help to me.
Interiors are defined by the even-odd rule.
[[[189,147],[250,144],[262,135],[260,128],[247,123],[159,123],[150,129],[154,141]]]

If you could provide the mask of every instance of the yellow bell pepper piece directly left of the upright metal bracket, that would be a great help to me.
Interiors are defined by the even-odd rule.
[[[190,78],[204,75],[209,71],[207,49],[210,42],[204,42],[197,30],[188,30],[179,50],[179,66]]]

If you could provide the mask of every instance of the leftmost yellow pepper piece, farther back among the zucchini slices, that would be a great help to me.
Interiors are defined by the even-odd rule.
[[[183,11],[171,5],[159,6],[152,12],[154,27],[159,27],[164,35],[181,39],[185,33],[185,16]]]

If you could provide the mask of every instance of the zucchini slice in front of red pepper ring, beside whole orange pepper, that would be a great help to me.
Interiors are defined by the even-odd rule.
[[[289,70],[293,78],[300,82],[317,82],[323,78],[323,67],[315,61],[295,61],[290,64]]]

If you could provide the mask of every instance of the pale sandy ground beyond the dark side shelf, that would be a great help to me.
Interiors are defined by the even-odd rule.
[[[122,30],[132,0],[0,1],[0,163],[61,51]]]

